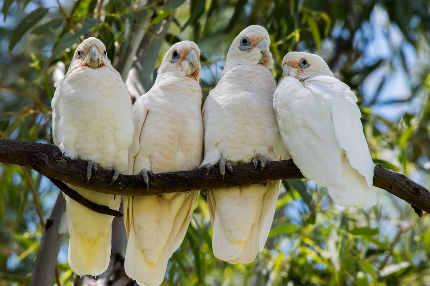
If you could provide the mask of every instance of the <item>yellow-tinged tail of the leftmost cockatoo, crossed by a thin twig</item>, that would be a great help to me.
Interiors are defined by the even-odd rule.
[[[118,196],[79,191],[87,199],[99,204],[108,205],[112,209],[119,208],[121,202]],[[109,266],[112,241],[113,216],[97,213],[70,199],[66,199],[67,225],[70,234],[68,261],[70,268],[77,275],[97,276]]]

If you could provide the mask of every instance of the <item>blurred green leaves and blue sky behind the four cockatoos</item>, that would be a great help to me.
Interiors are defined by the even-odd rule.
[[[57,63],[67,67],[88,36],[105,43],[133,96],[151,87],[172,43],[197,42],[205,98],[232,39],[250,24],[269,31],[277,80],[286,52],[323,56],[357,92],[375,163],[430,187],[429,0],[3,0],[0,135],[52,143]],[[5,164],[0,186],[0,286],[28,285],[58,189],[30,169]],[[383,190],[377,206],[354,209],[336,205],[310,181],[284,187],[266,247],[247,265],[213,256],[202,195],[163,285],[430,285],[427,214],[418,218]],[[124,251],[123,241],[114,248]],[[61,285],[73,284],[67,238],[57,268]]]

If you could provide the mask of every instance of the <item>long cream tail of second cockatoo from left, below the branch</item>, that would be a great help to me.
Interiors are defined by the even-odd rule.
[[[178,192],[161,197],[128,197],[124,202],[129,216],[125,220],[129,236],[124,268],[138,285],[163,283],[169,258],[184,240],[199,195],[200,191]]]

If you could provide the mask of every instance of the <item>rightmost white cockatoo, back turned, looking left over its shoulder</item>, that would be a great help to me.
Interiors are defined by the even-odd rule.
[[[361,123],[357,96],[317,55],[289,52],[274,94],[282,139],[303,176],[327,187],[340,205],[378,202],[375,164]]]

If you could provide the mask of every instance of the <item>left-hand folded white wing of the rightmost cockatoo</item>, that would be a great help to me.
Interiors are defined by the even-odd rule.
[[[284,77],[273,105],[282,139],[302,174],[320,186],[333,185],[342,173],[330,97],[315,96],[292,77]]]

